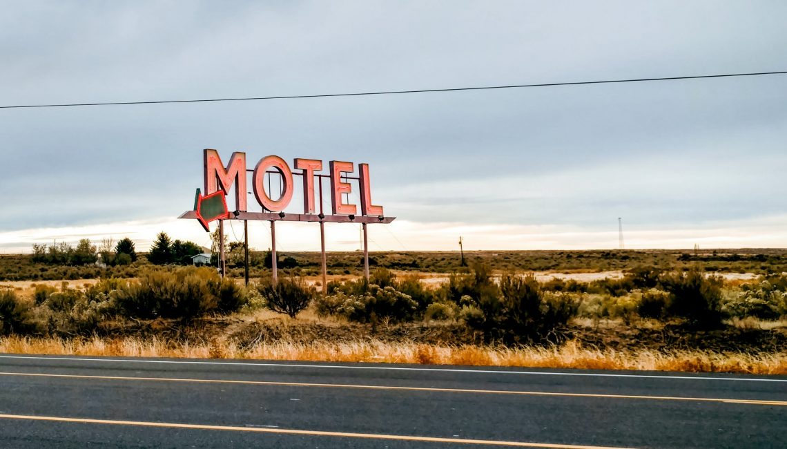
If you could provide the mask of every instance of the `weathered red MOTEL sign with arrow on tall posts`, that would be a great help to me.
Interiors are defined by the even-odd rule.
[[[269,221],[271,224],[271,252],[273,281],[276,281],[275,255],[275,222],[276,221],[308,221],[320,223],[320,240],[323,265],[323,291],[326,288],[327,270],[325,255],[325,223],[360,223],[364,233],[364,276],[369,277],[369,254],[367,224],[387,224],[394,217],[386,217],[382,206],[373,204],[371,199],[371,180],[369,165],[357,165],[357,175],[353,176],[356,167],[353,162],[329,161],[327,174],[323,172],[323,161],[318,159],[295,158],[292,168],[279,156],[269,155],[261,158],[249,169],[246,153],[235,152],[227,164],[222,161],[216,150],[203,150],[204,188],[205,195],[197,191],[194,210],[188,210],[179,218],[197,219],[209,230],[211,221],[219,221],[220,234],[224,235],[224,220],[242,220],[246,229],[246,280],[248,281],[248,221]],[[294,171],[295,170],[295,171]],[[252,191],[249,191],[249,174]],[[303,197],[302,213],[285,213],[292,202],[296,182],[300,178]],[[279,195],[274,199],[272,193],[273,179],[279,186]],[[326,180],[327,183],[323,182]],[[266,188],[267,181],[267,188]],[[331,198],[330,213],[323,210],[323,184],[327,184]],[[227,195],[235,187],[234,210],[227,207]],[[353,190],[353,189],[357,190]],[[349,196],[357,191],[360,204],[353,203]],[[252,193],[260,206],[261,212],[251,212],[248,207],[248,196]],[[327,196],[327,195],[326,195]],[[358,213],[360,208],[360,214]],[[224,239],[220,239],[220,269],[224,275]]]

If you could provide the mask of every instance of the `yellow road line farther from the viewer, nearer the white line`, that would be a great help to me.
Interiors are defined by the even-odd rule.
[[[526,395],[526,396],[557,396],[569,398],[606,398],[606,399],[646,399],[661,401],[694,401],[705,403],[734,403],[764,406],[787,406],[787,401],[770,401],[759,399],[730,398],[691,398],[684,396],[647,396],[647,395],[607,395],[603,393],[560,393],[555,391],[515,391],[515,390],[474,390],[467,388],[434,388],[434,387],[396,387],[391,385],[356,385],[356,384],[313,384],[304,382],[281,382],[270,380],[224,380],[224,379],[188,379],[181,377],[124,377],[124,376],[90,376],[86,374],[46,374],[46,373],[2,373],[0,376],[20,377],[61,377],[66,379],[98,379],[98,380],[145,380],[158,382],[187,382],[198,384],[241,384],[268,385],[279,387],[311,387],[311,388],[357,388],[364,390],[398,390],[428,391],[442,393],[471,393],[484,395]]]

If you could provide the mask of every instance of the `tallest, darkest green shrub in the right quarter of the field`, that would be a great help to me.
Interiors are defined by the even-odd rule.
[[[690,325],[718,326],[722,321],[722,280],[705,277],[700,269],[663,275],[660,284],[670,295],[667,312]]]

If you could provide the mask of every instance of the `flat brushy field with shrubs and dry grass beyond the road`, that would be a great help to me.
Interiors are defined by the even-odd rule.
[[[289,259],[288,259],[289,258]],[[0,256],[0,351],[787,373],[787,250],[280,255],[215,269]],[[262,259],[261,257],[258,260]]]

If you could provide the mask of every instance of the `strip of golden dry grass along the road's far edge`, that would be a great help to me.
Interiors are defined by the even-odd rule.
[[[655,371],[787,374],[787,353],[742,354],[704,351],[599,351],[569,342],[560,347],[503,348],[434,346],[357,340],[260,343],[242,349],[214,340],[201,345],[134,338],[98,337],[64,340],[9,336],[0,338],[0,352],[12,354],[98,355],[171,358],[245,358],[324,362],[390,362],[469,366],[522,366],[576,369],[645,369]]]

